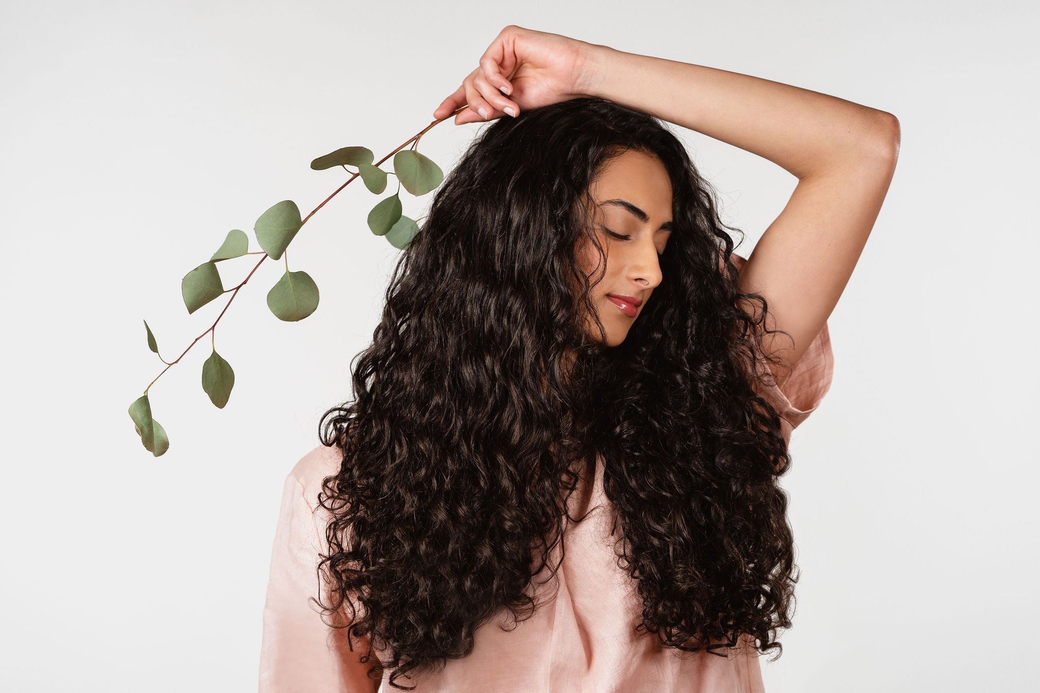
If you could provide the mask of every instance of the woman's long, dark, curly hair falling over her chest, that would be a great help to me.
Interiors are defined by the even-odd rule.
[[[591,294],[603,273],[582,271],[576,247],[593,243],[605,268],[582,203],[626,150],[664,164],[675,229],[660,285],[608,347]],[[391,669],[412,690],[397,678],[466,657],[503,608],[532,615],[528,587],[564,518],[579,522],[567,500],[597,453],[636,631],[716,655],[748,634],[780,656],[797,582],[777,484],[790,458],[752,383],[771,382],[761,339],[779,330],[765,299],[739,291],[738,230],[717,209],[661,121],[596,98],[492,122],[445,178],[352,361],[354,399],[319,422],[343,461],[319,492],[318,604],[345,615],[333,625],[352,649],[369,638],[369,677]]]

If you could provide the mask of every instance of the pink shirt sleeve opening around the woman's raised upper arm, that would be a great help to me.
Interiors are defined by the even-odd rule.
[[[737,270],[743,269],[747,260],[736,254],[731,257]],[[763,357],[757,348],[755,350],[757,356]],[[783,384],[763,384],[755,380],[754,387],[780,415],[783,436],[789,442],[791,432],[820,406],[831,389],[833,376],[834,352],[830,330],[825,322],[802,357],[796,362]]]

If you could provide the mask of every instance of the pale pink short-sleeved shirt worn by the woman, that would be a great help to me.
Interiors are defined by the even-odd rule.
[[[739,269],[745,260],[734,256]],[[831,384],[833,354],[825,324],[782,387],[760,389],[781,416],[784,436],[820,405]],[[336,474],[338,448],[318,446],[285,479],[263,609],[260,693],[388,693],[387,682],[370,681],[370,663],[358,658],[367,642],[347,646],[346,629],[330,629],[317,596],[318,552],[327,551],[327,511],[317,504],[321,480]],[[538,592],[534,616],[502,631],[500,614],[474,633],[472,654],[448,660],[435,674],[400,678],[415,693],[764,693],[758,652],[749,637],[725,658],[708,652],[664,648],[652,634],[636,635],[641,604],[634,582],[616,563],[617,535],[610,535],[614,506],[602,491],[602,458],[588,470],[571,495],[558,588],[549,582]],[[316,511],[315,511],[316,509]],[[560,560],[557,542],[551,564]],[[547,574],[547,569],[545,572]],[[539,576],[543,581],[544,575]],[[555,598],[545,603],[556,589]],[[328,594],[322,589],[321,595]]]

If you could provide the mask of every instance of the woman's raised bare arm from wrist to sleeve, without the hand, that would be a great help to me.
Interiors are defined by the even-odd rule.
[[[844,290],[888,191],[900,125],[883,110],[768,79],[591,45],[581,90],[773,161],[798,178],[740,272],[794,367]],[[778,369],[783,382],[789,370]]]

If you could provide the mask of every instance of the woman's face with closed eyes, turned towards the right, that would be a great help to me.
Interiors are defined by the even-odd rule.
[[[617,346],[660,284],[658,255],[672,235],[672,182],[659,159],[628,150],[605,165],[589,191],[596,205],[595,231],[606,256],[606,272],[592,288],[591,298],[606,330],[606,345]],[[577,258],[586,274],[599,271],[599,252],[584,239]],[[599,339],[594,322],[588,322],[588,331]]]

